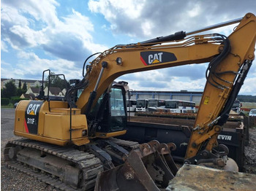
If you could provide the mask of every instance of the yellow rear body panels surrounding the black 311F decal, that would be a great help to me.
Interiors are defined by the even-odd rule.
[[[45,101],[39,110],[37,134],[31,134],[26,133],[24,125],[26,107],[29,105],[29,102],[20,101],[20,104],[15,110],[15,135],[61,146],[69,144],[70,109],[66,107],[67,104],[63,101],[50,101],[49,111],[48,101]],[[80,109],[72,109],[71,126],[72,142],[78,145],[88,144],[88,136],[82,135],[83,130],[88,132],[86,115],[80,114]]]

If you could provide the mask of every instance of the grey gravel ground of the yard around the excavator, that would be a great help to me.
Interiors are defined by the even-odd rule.
[[[7,168],[3,161],[4,145],[12,139],[15,109],[1,109],[1,190],[56,190],[48,184],[39,182],[32,176]],[[256,174],[256,129],[249,130],[249,146],[245,148],[245,168],[247,173]]]

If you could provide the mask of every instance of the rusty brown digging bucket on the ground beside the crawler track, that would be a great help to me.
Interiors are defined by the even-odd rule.
[[[123,165],[99,173],[94,190],[159,190],[177,171],[168,145],[151,141],[133,149]]]

